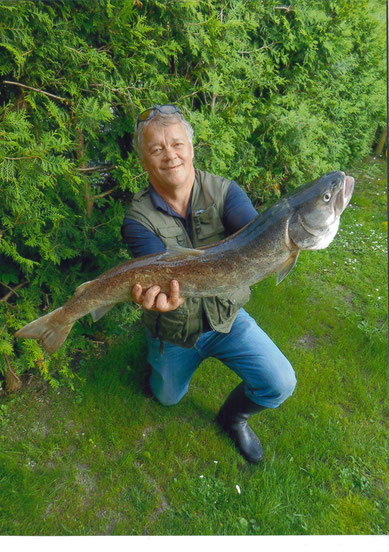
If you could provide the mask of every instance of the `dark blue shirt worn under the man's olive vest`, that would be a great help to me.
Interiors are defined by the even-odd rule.
[[[182,217],[150,185],[150,197],[156,207],[161,209],[172,217],[179,218],[185,226],[188,236],[192,240],[192,224],[191,224],[191,205],[188,204],[186,217]],[[239,188],[238,184],[231,181],[227,191],[226,200],[224,203],[224,211],[222,223],[226,229],[227,235],[234,234],[243,226],[246,226],[257,216],[257,212],[253,204],[247,197],[247,194]],[[151,230],[130,218],[125,218],[122,225],[122,236],[127,243],[129,250],[134,257],[142,257],[151,253],[161,253],[166,247],[163,241],[153,234]]]

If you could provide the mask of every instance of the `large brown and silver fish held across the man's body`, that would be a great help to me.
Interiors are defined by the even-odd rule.
[[[55,352],[74,322],[91,313],[99,320],[116,303],[129,301],[135,283],[157,284],[169,293],[178,280],[183,297],[232,293],[277,272],[277,284],[296,264],[300,250],[324,249],[334,239],[339,218],[354,189],[354,179],[332,172],[281,199],[236,234],[199,249],[174,248],[127,261],[79,286],[60,307],[16,332],[40,339]]]

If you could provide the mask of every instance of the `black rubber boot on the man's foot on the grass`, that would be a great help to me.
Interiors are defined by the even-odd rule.
[[[234,441],[242,456],[254,464],[258,464],[263,459],[263,448],[247,420],[265,408],[246,396],[242,382],[228,396],[216,418],[220,426]]]

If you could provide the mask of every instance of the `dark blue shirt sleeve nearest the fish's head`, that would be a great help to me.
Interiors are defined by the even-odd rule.
[[[228,234],[237,232],[258,215],[246,192],[232,180],[223,211],[223,224]]]

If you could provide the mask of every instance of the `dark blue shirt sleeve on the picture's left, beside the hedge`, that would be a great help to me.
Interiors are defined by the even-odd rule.
[[[162,253],[166,250],[165,244],[158,236],[133,219],[124,219],[121,233],[134,257]]]

